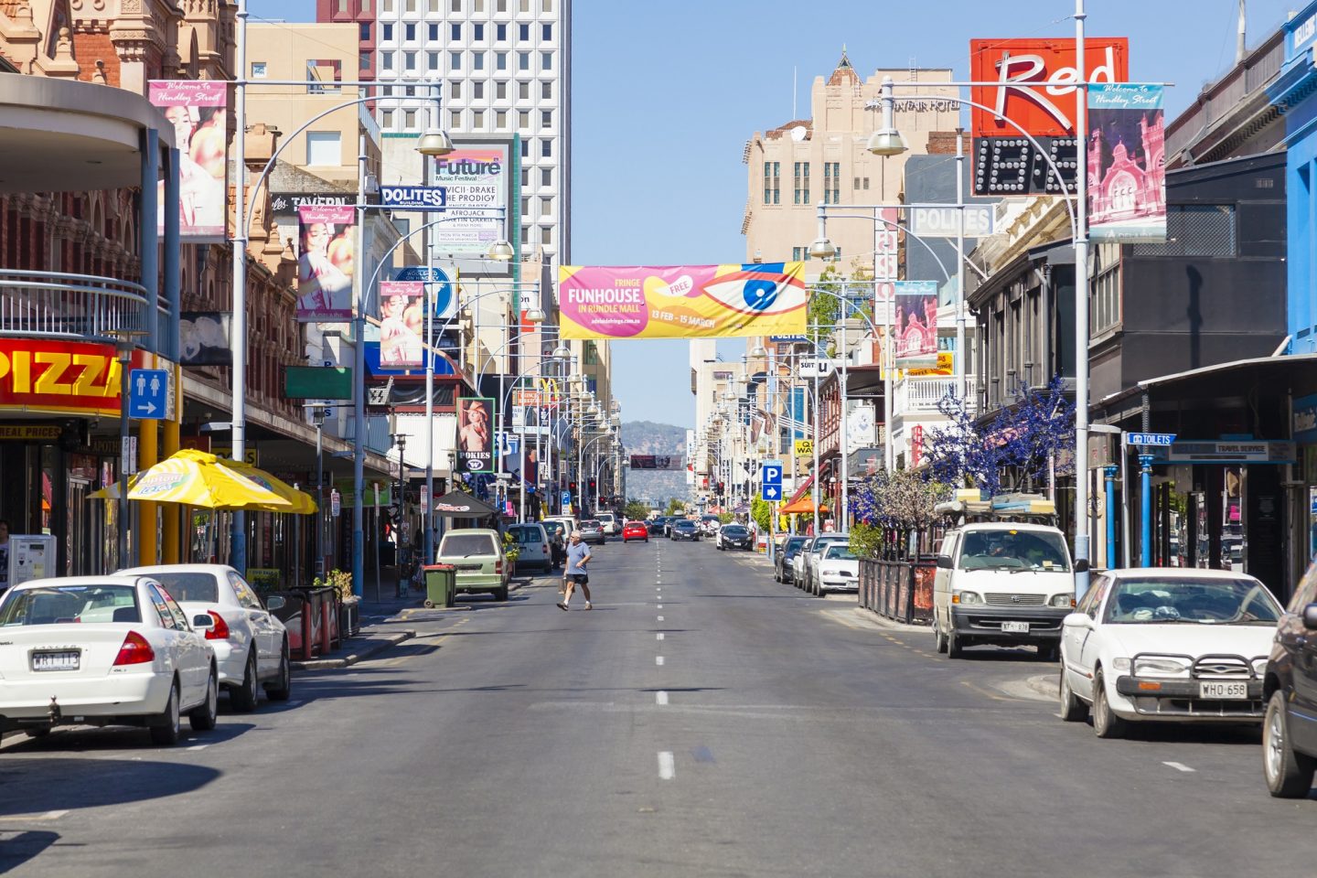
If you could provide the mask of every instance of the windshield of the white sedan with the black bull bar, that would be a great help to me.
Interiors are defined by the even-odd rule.
[[[1105,621],[1115,624],[1200,623],[1204,625],[1275,625],[1280,606],[1247,577],[1119,578],[1106,600]]]

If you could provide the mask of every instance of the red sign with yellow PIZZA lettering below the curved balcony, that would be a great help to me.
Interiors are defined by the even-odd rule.
[[[132,367],[145,359],[133,350]],[[113,345],[0,338],[0,409],[117,417],[119,391]]]

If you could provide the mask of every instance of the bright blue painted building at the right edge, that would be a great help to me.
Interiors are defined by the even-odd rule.
[[[1317,1],[1283,26],[1285,63],[1267,87],[1285,120],[1289,271],[1287,332],[1291,354],[1317,353]]]

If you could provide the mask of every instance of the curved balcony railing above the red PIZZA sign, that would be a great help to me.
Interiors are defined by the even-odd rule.
[[[149,334],[146,299],[145,287],[116,278],[0,270],[0,336],[108,344],[137,338]]]

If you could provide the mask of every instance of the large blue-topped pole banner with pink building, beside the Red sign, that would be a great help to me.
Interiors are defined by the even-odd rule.
[[[1088,228],[1094,241],[1166,241],[1160,86],[1088,91]]]

